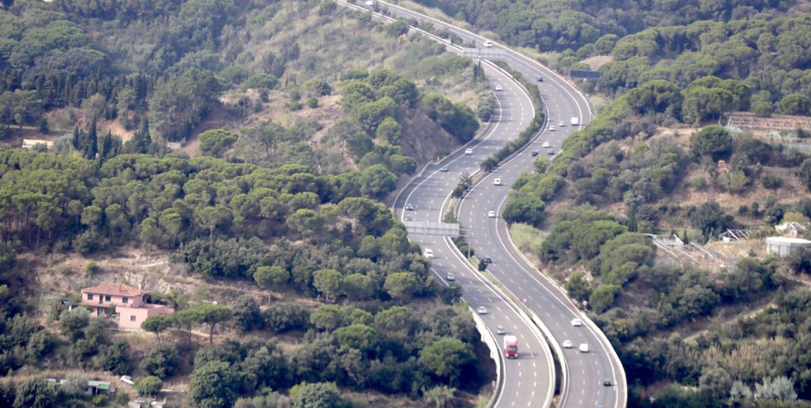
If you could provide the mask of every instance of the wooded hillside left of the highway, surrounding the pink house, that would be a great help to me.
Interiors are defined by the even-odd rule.
[[[332,2],[21,0],[0,21],[3,141],[53,141],[0,150],[0,405],[126,405],[84,395],[102,372],[196,406],[441,404],[489,383],[458,289],[380,204],[489,117],[469,59]],[[127,251],[234,289],[152,291],[177,312],[120,335],[76,306],[93,277],[128,283],[100,266]],[[84,283],[41,293],[32,253],[79,256],[61,273]]]

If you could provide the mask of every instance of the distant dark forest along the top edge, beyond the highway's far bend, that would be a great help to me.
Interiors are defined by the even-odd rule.
[[[559,1],[418,0],[445,14],[495,32],[510,45],[542,52],[578,49],[599,40],[625,37],[645,28],[690,24],[699,20],[768,19],[797,2],[703,1]],[[607,37],[603,37],[607,36]]]

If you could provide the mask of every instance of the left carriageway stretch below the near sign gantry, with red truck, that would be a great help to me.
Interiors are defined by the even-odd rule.
[[[422,245],[437,244],[439,241],[434,236],[414,234],[414,242]],[[539,398],[546,402],[551,401],[553,380],[551,376],[551,360],[546,353],[541,350],[547,347],[543,339],[534,335],[534,330],[530,328],[526,320],[521,320],[517,309],[508,307],[503,298],[484,285],[481,277],[474,276],[474,273],[463,264],[457,256],[448,254],[451,252],[448,247],[436,247],[435,258],[431,260],[431,273],[433,273],[445,285],[451,282],[447,280],[448,272],[455,275],[454,282],[462,286],[462,298],[470,306],[477,309],[479,306],[487,308],[487,314],[479,315],[487,325],[487,329],[496,337],[496,343],[500,354],[504,355],[503,337],[496,334],[498,325],[504,326],[506,334],[512,334],[519,340],[519,358],[516,360],[504,359],[504,392],[502,401],[509,402],[510,406],[537,406]],[[448,254],[446,256],[446,254]],[[541,368],[547,367],[544,371]],[[531,386],[530,386],[531,384]],[[530,389],[527,389],[530,387]]]

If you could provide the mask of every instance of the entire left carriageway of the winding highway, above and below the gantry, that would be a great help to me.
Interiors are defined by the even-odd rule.
[[[425,32],[423,34],[431,36]],[[461,52],[459,47],[450,45],[448,41],[431,37],[442,41],[448,51]],[[493,89],[497,89],[496,85],[500,88],[494,91],[497,108],[491,122],[477,139],[442,161],[427,165],[401,190],[394,203],[401,221],[405,221],[406,217],[410,221],[441,221],[461,174],[478,171],[479,163],[484,158],[517,137],[532,121],[534,106],[521,84],[489,62],[484,63],[483,68]],[[465,148],[471,148],[472,154],[466,154]],[[410,204],[412,209],[406,210],[405,204]],[[479,317],[496,340],[499,365],[503,367],[500,371],[502,386],[497,388],[498,393],[493,397],[491,406],[551,406],[556,382],[554,361],[547,341],[526,312],[471,268],[449,238],[423,234],[409,234],[409,238],[420,247],[433,251],[431,272],[439,281],[444,285],[460,285],[462,298],[470,303],[470,307],[477,311],[479,307],[484,307],[487,311]],[[448,281],[448,273],[453,274],[453,281]],[[504,335],[517,337],[518,359],[504,359],[504,335],[497,333],[499,326],[504,328]]]

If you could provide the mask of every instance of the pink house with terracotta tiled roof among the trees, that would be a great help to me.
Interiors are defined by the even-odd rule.
[[[149,316],[171,315],[174,308],[147,303],[146,290],[120,283],[102,283],[82,290],[82,304],[92,309],[92,316],[108,314],[115,307],[115,319],[123,329],[140,329]]]

